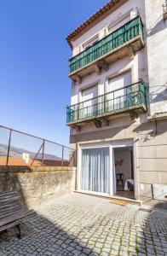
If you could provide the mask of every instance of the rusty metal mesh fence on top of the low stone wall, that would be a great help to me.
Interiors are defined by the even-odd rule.
[[[75,166],[76,151],[0,125],[0,166]]]

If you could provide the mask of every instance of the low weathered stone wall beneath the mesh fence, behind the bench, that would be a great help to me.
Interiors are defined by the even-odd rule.
[[[0,166],[0,191],[18,190],[28,208],[75,189],[75,167]]]

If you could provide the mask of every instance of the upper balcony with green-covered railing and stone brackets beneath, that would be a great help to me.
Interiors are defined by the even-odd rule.
[[[76,74],[82,77],[97,70],[101,72],[101,63],[104,61],[106,66],[103,67],[107,68],[110,62],[125,55],[133,56],[133,53],[143,46],[143,25],[141,17],[137,16],[82,53],[72,57],[69,60],[69,77],[74,79]]]

